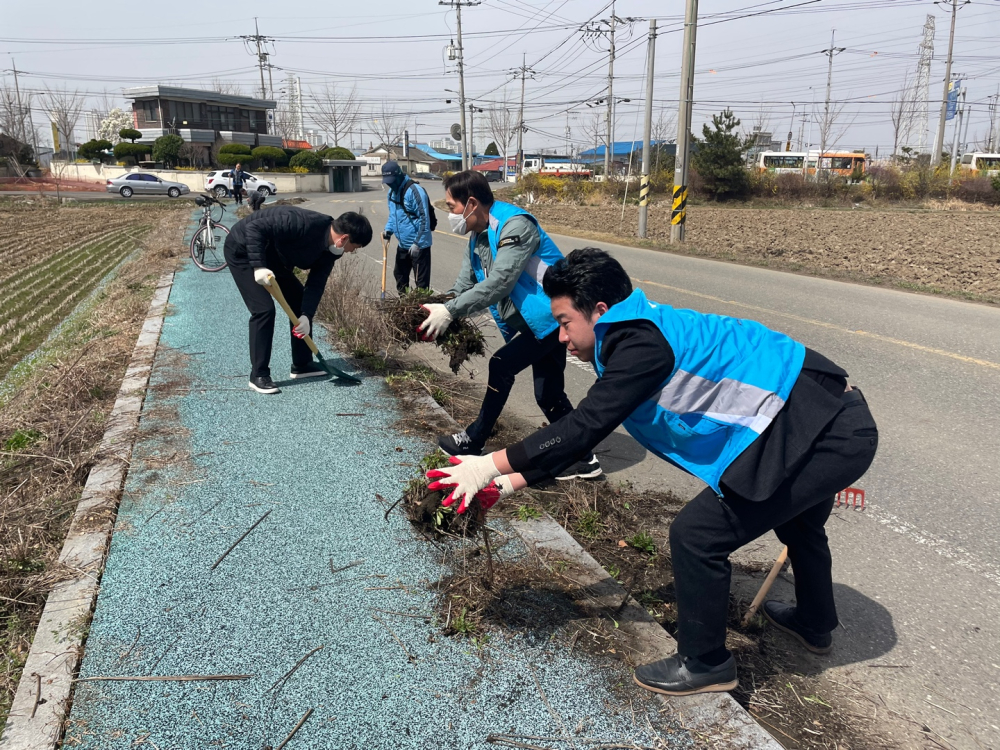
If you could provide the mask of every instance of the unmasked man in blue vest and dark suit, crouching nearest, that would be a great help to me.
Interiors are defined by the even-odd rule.
[[[823,355],[760,323],[674,309],[633,291],[602,250],[548,270],[545,293],[569,351],[598,380],[571,414],[488,456],[428,472],[458,511],[484,507],[558,473],[623,424],[651,453],[705,490],[670,526],[677,654],[635,671],[666,695],[732,690],[726,649],[729,555],[774,530],[788,545],[796,605],[765,602],[772,625],[814,653],[837,626],[824,525],[834,495],[861,477],[878,430],[861,391]]]

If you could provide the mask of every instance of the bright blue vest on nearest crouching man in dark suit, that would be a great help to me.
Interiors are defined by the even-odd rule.
[[[656,324],[674,350],[674,369],[625,429],[721,496],[722,473],[784,407],[805,347],[752,320],[674,309],[636,289],[594,326],[598,377],[608,326],[628,320]]]

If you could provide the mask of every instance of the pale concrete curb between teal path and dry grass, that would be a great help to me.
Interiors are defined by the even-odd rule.
[[[98,462],[90,470],[59,555],[60,566],[71,577],[53,587],[45,602],[0,737],[3,750],[49,750],[62,738],[173,279],[173,271],[165,273],[156,285],[118,390]]]

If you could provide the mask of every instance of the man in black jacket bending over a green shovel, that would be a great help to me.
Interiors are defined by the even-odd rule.
[[[312,329],[326,280],[344,253],[353,253],[372,239],[371,224],[361,214],[347,212],[336,219],[294,206],[255,211],[237,222],[226,238],[226,262],[250,310],[250,387],[258,393],[280,393],[271,380],[274,301],[265,286],[276,283],[299,316],[292,326],[293,378],[326,375],[302,341]],[[309,271],[305,287],[294,269]]]

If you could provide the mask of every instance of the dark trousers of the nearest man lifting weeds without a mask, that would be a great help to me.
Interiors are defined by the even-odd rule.
[[[875,420],[861,392],[845,393],[843,400],[844,407],[770,498],[719,498],[706,488],[670,525],[682,655],[699,656],[725,645],[729,555],[772,529],[788,545],[799,622],[816,633],[837,626],[824,525],[836,493],[868,470],[878,448]]]

